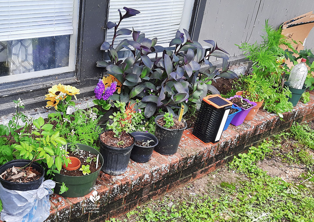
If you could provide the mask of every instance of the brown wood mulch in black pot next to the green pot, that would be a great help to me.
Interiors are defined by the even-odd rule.
[[[117,148],[125,148],[129,147],[133,144],[133,137],[128,133],[123,133],[120,138],[115,137],[115,133],[113,131],[105,131],[100,134],[101,142],[105,143],[107,146],[117,147]],[[117,143],[123,141],[123,145],[118,145]]]

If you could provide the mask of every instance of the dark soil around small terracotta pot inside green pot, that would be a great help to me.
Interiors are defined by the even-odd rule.
[[[68,148],[69,149],[69,148]],[[71,150],[68,150],[69,152],[69,156],[71,157],[76,157],[81,161],[81,166],[82,165],[89,165],[89,170],[90,173],[94,173],[95,171],[97,171],[98,169],[100,169],[101,167],[101,163],[100,160],[98,159],[98,168],[96,169],[96,161],[92,160],[91,163],[89,162],[85,162],[86,158],[90,157],[90,158],[96,158],[97,159],[97,155],[95,153],[90,153],[89,151],[85,151],[85,150],[81,150],[81,149],[77,149],[77,152],[72,152]],[[76,169],[76,170],[66,170],[66,169],[61,169],[60,174],[62,175],[66,175],[66,176],[83,176],[83,171],[79,170],[81,169],[81,166]]]

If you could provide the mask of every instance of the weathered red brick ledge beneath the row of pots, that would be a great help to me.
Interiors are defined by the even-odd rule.
[[[314,119],[314,92],[311,101],[298,103],[293,111],[284,113],[283,120],[275,114],[259,110],[251,121],[239,126],[230,125],[219,143],[204,145],[192,137],[192,129],[185,130],[178,152],[163,156],[154,151],[148,163],[129,161],[127,172],[119,176],[101,173],[94,189],[100,195],[99,213],[89,213],[82,205],[89,204],[89,196],[64,198],[50,197],[51,211],[46,222],[104,221],[125,214],[136,206],[157,197],[180,184],[195,180],[232,160],[238,153],[247,151],[264,138],[288,129],[293,121]]]

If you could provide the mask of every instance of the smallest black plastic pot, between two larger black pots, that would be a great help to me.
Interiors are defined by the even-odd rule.
[[[150,157],[153,154],[154,148],[157,146],[158,144],[158,139],[156,136],[154,136],[153,134],[150,134],[148,132],[133,132],[131,133],[132,136],[134,136],[135,141],[150,141],[153,140],[154,141],[154,145],[149,146],[149,147],[143,147],[143,146],[139,146],[134,144],[134,147],[132,149],[131,152],[131,156],[130,158],[138,163],[146,163],[149,161]],[[153,142],[151,142],[153,143]]]

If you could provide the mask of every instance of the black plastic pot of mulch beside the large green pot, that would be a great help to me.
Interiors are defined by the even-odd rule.
[[[109,131],[109,130],[106,130],[106,131]],[[134,136],[132,136],[131,134],[130,136],[133,138],[133,144],[129,147],[118,148],[118,147],[111,147],[103,143],[100,140],[100,135],[99,135],[98,140],[100,144],[100,153],[102,157],[104,158],[104,164],[101,170],[104,173],[109,174],[109,175],[121,175],[127,170],[127,164],[129,163],[131,151],[135,144]]]

